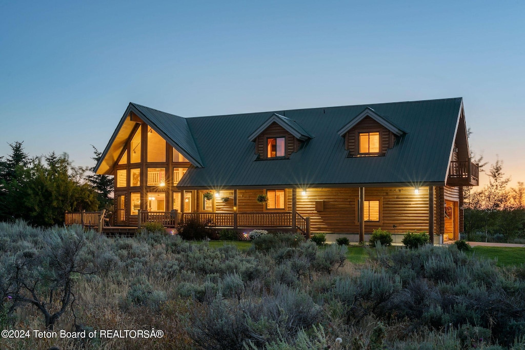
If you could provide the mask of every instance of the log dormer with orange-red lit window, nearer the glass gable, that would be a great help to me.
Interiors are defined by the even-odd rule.
[[[312,136],[295,120],[274,113],[248,139],[255,142],[259,160],[286,159]]]

